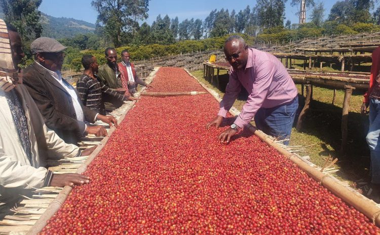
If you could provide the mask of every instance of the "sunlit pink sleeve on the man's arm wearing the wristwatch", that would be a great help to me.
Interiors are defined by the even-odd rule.
[[[268,95],[268,90],[275,73],[275,65],[271,61],[263,61],[256,69],[256,79],[252,85],[251,94],[242,108],[241,113],[235,120],[240,128],[247,125],[262,106]]]

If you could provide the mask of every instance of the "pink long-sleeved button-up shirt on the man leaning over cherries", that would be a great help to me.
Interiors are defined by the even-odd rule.
[[[298,93],[286,68],[275,56],[252,48],[248,49],[245,69],[235,71],[231,66],[230,81],[220,102],[218,115],[225,117],[238,97],[241,85],[249,96],[235,121],[240,128],[252,120],[259,108],[284,105]]]

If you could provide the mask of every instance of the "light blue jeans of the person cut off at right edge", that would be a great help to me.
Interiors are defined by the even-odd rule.
[[[371,152],[370,175],[372,183],[380,183],[380,101],[369,98],[369,130],[365,137]]]

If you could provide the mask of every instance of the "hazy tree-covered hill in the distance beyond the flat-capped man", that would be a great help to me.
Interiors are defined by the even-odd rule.
[[[95,24],[73,18],[57,18],[45,13],[41,13],[41,22],[43,27],[42,36],[46,37],[67,38],[77,34],[94,32],[95,30]]]

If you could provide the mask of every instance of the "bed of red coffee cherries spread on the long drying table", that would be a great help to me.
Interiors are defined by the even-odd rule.
[[[154,91],[203,91],[161,68]],[[228,145],[206,130],[219,109],[207,94],[142,97],[40,234],[380,234],[249,131]]]

